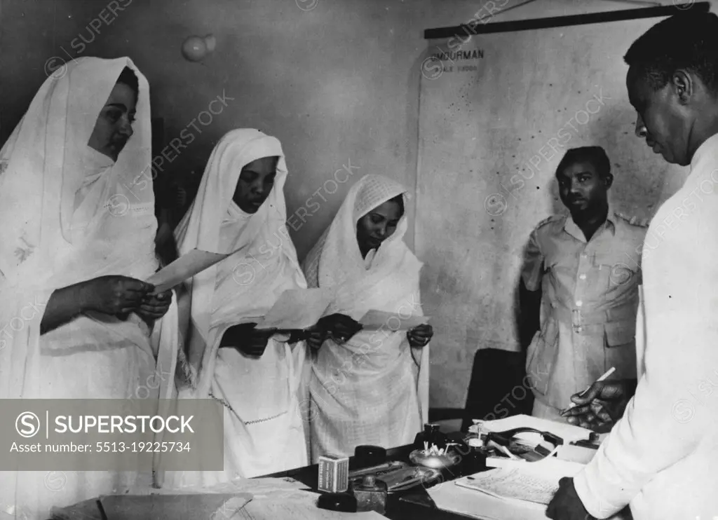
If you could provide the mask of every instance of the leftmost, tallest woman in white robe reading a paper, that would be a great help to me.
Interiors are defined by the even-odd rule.
[[[0,152],[0,398],[157,399],[177,308],[141,281],[158,268],[151,176],[138,179],[151,159],[149,87],[128,58],[65,67]],[[52,506],[121,493],[136,478],[3,471],[0,508],[45,520]]]

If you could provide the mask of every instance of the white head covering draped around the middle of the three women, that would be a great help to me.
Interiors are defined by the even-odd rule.
[[[242,212],[232,200],[242,168],[256,159],[274,156],[279,161],[269,197],[255,214]],[[195,248],[218,253],[239,250],[188,284],[192,291],[190,352],[203,353],[200,393],[209,391],[216,346],[223,334],[213,326],[220,321],[227,325],[228,317],[220,316],[222,309],[213,303],[215,289],[230,281],[234,293],[231,306],[241,307],[243,316],[263,316],[279,296],[272,288],[287,262],[290,270],[294,268],[295,283],[306,286],[286,230],[287,173],[279,140],[251,128],[230,131],[215,146],[197,197],[174,232],[181,255]],[[276,291],[281,293],[279,288]]]

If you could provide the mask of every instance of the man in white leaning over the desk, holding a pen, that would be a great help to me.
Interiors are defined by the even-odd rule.
[[[718,16],[663,20],[624,59],[636,133],[691,174],[645,237],[638,387],[546,515],[605,519],[630,505],[635,520],[718,519]],[[620,411],[629,394],[628,381],[595,384],[572,397],[574,421],[600,424],[610,414],[597,399]]]

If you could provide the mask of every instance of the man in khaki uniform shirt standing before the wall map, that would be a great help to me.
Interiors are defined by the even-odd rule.
[[[607,369],[635,377],[635,317],[645,222],[610,212],[613,176],[603,148],[567,151],[556,171],[569,215],[531,233],[521,278],[543,288],[541,330],[528,347],[533,415],[563,420],[571,396]]]

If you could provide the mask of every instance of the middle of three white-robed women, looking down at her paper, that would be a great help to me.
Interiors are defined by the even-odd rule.
[[[180,389],[181,399],[213,397],[224,405],[224,471],[168,472],[166,487],[211,486],[307,464],[298,401],[304,342],[242,324],[264,316],[284,290],[307,286],[286,230],[286,176],[276,138],[230,131],[175,230],[181,255],[195,248],[237,252],[187,286],[192,381]]]

